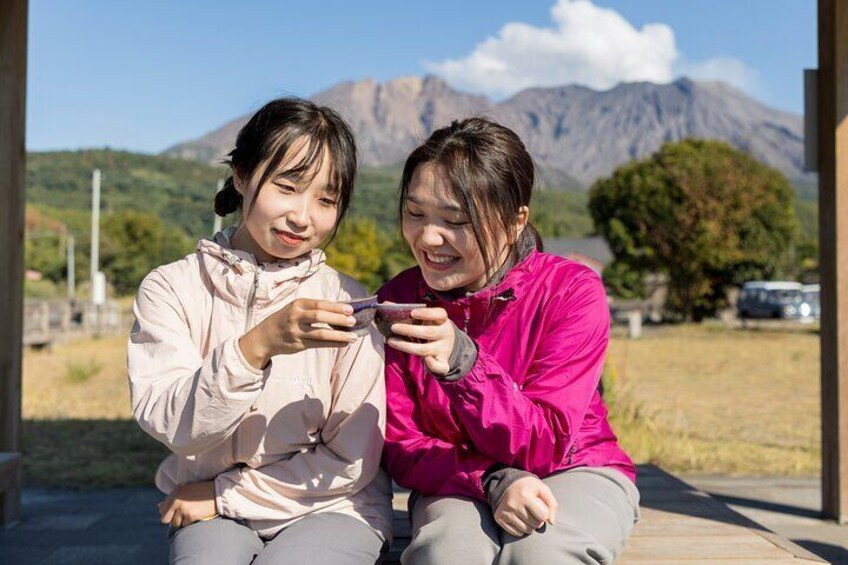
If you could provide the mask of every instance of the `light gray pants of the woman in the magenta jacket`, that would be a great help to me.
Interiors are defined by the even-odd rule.
[[[487,504],[422,497],[412,511],[403,565],[609,565],[639,519],[639,491],[613,469],[579,467],[543,479],[559,502],[556,525],[516,538]]]

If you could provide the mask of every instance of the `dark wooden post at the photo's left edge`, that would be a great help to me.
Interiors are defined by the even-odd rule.
[[[11,476],[0,524],[20,514],[27,11],[27,0],[0,2],[0,476]]]

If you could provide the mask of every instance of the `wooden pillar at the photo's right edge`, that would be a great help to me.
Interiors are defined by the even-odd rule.
[[[822,511],[848,522],[848,2],[819,0]]]

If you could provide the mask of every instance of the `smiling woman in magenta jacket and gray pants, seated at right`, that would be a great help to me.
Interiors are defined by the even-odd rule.
[[[598,390],[604,287],[541,252],[533,182],[518,136],[480,118],[434,132],[403,170],[418,266],[380,298],[428,306],[386,349],[384,460],[414,491],[407,565],[608,564],[638,519]]]

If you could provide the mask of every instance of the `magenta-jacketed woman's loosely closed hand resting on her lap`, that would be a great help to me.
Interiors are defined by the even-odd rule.
[[[543,524],[554,524],[559,503],[538,477],[524,477],[507,487],[495,509],[495,522],[517,538],[533,533]]]

